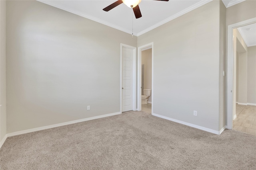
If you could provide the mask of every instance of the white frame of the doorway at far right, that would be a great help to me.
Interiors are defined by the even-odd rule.
[[[227,129],[232,129],[233,123],[233,94],[236,90],[233,89],[233,74],[234,74],[234,54],[233,54],[233,29],[255,23],[256,18],[241,21],[228,25],[228,64],[227,64],[227,89],[226,89],[226,100],[227,100]]]

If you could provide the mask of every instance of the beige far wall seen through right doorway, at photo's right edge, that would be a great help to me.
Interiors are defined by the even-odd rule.
[[[256,105],[256,46],[248,47],[247,62],[247,103]]]

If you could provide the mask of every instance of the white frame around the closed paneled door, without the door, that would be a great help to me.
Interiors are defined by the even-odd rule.
[[[122,107],[123,107],[123,90],[122,90],[122,84],[123,84],[123,47],[132,49],[133,50],[133,63],[132,63],[132,109],[136,111],[136,59],[137,59],[137,54],[136,54],[136,47],[126,45],[121,43],[120,45],[120,113],[122,113]]]

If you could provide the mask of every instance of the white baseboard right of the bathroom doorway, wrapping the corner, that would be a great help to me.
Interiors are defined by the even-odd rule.
[[[209,129],[209,128],[206,128],[206,127],[194,125],[194,124],[192,124],[192,123],[187,123],[187,122],[180,121],[180,120],[177,120],[177,119],[172,119],[172,118],[170,118],[170,117],[158,115],[158,114],[156,114],[156,113],[152,113],[152,115],[154,115],[154,116],[156,116],[156,117],[163,118],[163,119],[167,119],[167,120],[170,120],[170,121],[174,121],[174,122],[176,122],[176,123],[180,123],[180,124],[183,124],[183,125],[187,125],[187,126],[190,126],[190,127],[194,127],[194,128],[196,128],[196,129],[200,129],[200,130],[203,130],[203,131],[207,131],[207,132],[210,132],[210,133],[214,133],[214,134],[216,134],[216,135],[220,135],[220,134],[224,131],[224,127],[223,127],[220,131],[215,131],[215,130],[213,130],[213,129]]]

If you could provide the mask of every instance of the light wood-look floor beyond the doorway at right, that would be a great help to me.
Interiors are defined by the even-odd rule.
[[[233,129],[256,136],[256,106],[236,104],[236,119]]]

